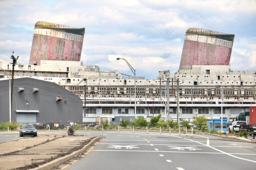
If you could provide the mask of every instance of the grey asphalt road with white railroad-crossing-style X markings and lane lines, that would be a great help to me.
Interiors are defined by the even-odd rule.
[[[146,132],[76,132],[77,135],[103,135],[81,160],[65,170],[178,169],[252,170],[256,169],[256,144],[230,141],[211,135]]]

